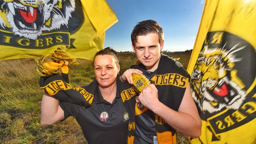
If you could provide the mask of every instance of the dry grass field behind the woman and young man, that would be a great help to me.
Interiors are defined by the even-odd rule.
[[[187,68],[191,51],[168,53],[180,58]],[[133,53],[120,53],[122,74],[136,60]],[[78,59],[80,65],[71,65],[70,84],[85,85],[93,81],[91,61]],[[30,59],[0,62],[0,143],[1,144],[86,144],[82,130],[72,117],[51,126],[41,126],[40,107],[43,92],[39,89],[36,64]],[[178,144],[187,144],[178,133]]]

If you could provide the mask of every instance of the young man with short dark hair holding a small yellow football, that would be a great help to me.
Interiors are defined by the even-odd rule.
[[[132,73],[143,73],[154,81],[138,97],[144,107],[135,106],[135,137],[131,136],[131,141],[175,144],[176,130],[199,137],[202,123],[191,96],[189,74],[179,62],[160,54],[164,45],[161,26],[154,20],[139,22],[131,39],[138,61],[120,79],[133,83]]]

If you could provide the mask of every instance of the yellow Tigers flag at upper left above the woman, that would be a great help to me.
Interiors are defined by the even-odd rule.
[[[92,60],[118,20],[105,0],[1,0],[0,61],[53,53]]]

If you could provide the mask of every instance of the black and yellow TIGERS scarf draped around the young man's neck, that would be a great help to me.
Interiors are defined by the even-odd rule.
[[[146,70],[139,60],[135,61],[131,68]],[[183,66],[171,57],[161,54],[156,75],[151,80],[158,89],[160,102],[178,111],[189,80],[189,74]],[[146,111],[147,108],[145,107],[143,110]],[[135,114],[143,113],[143,110],[135,107]],[[155,114],[155,123],[158,144],[176,144],[176,130],[157,114]],[[133,140],[134,136],[130,137],[130,144],[133,143]]]

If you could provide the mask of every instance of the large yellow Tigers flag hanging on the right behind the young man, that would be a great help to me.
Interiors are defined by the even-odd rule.
[[[256,144],[256,0],[206,0],[187,68],[202,119],[192,144]]]

